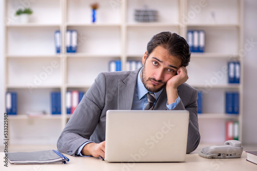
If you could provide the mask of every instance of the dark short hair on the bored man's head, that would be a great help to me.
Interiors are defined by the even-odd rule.
[[[161,46],[164,49],[167,49],[169,55],[179,57],[181,59],[181,66],[188,66],[191,52],[185,38],[171,32],[158,33],[154,35],[147,44],[148,56],[157,46]]]

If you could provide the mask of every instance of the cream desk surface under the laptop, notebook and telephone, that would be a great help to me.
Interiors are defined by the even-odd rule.
[[[67,155],[66,155],[67,156]],[[235,159],[206,159],[197,153],[187,154],[185,162],[169,163],[108,163],[98,158],[67,156],[70,161],[67,164],[41,164],[41,165],[14,165],[8,162],[8,168],[4,166],[4,153],[0,153],[2,159],[0,170],[257,170],[257,165],[246,161],[247,154],[243,152],[241,158]]]

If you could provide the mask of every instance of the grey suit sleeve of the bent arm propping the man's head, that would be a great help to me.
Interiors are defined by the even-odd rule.
[[[198,127],[198,117],[197,117],[197,95],[198,91],[193,89],[191,92],[187,92],[189,103],[183,104],[183,99],[180,99],[178,105],[174,110],[187,110],[189,111],[189,126],[188,126],[188,142],[187,142],[187,153],[193,152],[199,142],[200,134]]]

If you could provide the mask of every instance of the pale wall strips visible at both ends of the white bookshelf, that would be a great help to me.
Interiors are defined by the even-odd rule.
[[[3,40],[3,1],[0,1],[0,125],[3,125],[4,114],[4,40]],[[249,41],[253,41],[252,49],[245,49],[246,55],[244,58],[244,103],[243,103],[243,143],[244,144],[257,144],[257,1],[245,0],[245,28],[244,40],[245,45]],[[247,46],[249,48],[249,45]],[[0,127],[1,142],[3,137],[3,126]],[[1,143],[2,145],[2,143]],[[0,146],[1,146],[0,145]]]

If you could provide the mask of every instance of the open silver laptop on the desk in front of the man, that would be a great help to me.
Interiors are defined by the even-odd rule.
[[[105,160],[108,162],[185,161],[188,111],[106,113]]]

